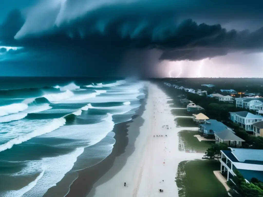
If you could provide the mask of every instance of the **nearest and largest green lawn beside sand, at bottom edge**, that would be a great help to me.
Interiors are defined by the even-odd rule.
[[[213,173],[219,169],[220,162],[214,160],[180,162],[175,179],[179,197],[228,197],[226,189]]]

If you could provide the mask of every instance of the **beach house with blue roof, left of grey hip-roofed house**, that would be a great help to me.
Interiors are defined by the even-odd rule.
[[[225,130],[226,128],[228,127],[222,122],[210,119],[205,121],[204,124],[200,124],[198,126],[198,132],[201,134],[201,136],[206,138],[215,138],[215,132]]]

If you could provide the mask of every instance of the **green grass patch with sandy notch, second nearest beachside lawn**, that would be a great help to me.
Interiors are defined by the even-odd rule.
[[[199,135],[198,131],[181,131],[178,133],[180,141],[183,141],[184,148],[182,143],[179,143],[180,151],[195,151],[195,152],[206,152],[208,148],[212,146],[214,141],[201,141],[194,137],[194,135]]]

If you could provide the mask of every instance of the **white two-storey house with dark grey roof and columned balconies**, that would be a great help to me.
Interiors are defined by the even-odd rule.
[[[247,111],[229,112],[229,113],[230,113],[230,120],[238,124],[240,127],[246,129],[246,131],[254,131],[254,126],[252,124],[263,120],[263,116],[254,115]]]

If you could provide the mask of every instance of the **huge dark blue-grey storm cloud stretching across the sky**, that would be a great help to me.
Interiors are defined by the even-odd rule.
[[[262,28],[253,32],[223,28],[240,21],[259,27],[263,20],[259,0],[44,2],[28,13],[25,22],[18,11],[10,13],[0,27],[0,41],[40,51],[47,54],[47,61],[57,58],[63,65],[77,61],[82,66],[115,67],[131,49],[157,48],[163,51],[162,60],[200,60],[263,48]]]

